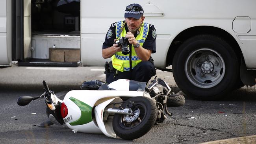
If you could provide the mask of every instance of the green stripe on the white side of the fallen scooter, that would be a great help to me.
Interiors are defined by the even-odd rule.
[[[78,120],[74,121],[74,122],[70,122],[69,124],[71,126],[77,126],[77,125],[82,125],[82,124],[87,124],[92,120],[92,117],[91,117],[91,113],[92,113],[92,107],[87,105],[86,103],[76,99],[76,98],[73,98],[73,97],[70,97],[69,98],[70,100],[72,100],[72,102],[76,103],[76,105],[80,108],[81,110],[81,116]]]

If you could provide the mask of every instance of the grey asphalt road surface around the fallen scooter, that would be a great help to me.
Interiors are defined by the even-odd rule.
[[[158,71],[174,90],[170,72]],[[105,135],[73,133],[67,126],[38,127],[47,119],[46,105],[38,99],[26,106],[17,105],[21,95],[43,93],[43,79],[63,99],[69,89],[79,89],[88,79],[104,80],[103,67],[0,69],[0,142],[1,143],[175,143],[197,144],[212,140],[256,135],[256,87],[234,90],[219,101],[198,101],[187,96],[182,107],[168,108],[174,114],[135,140],[108,138]],[[61,87],[61,88],[59,88]],[[63,91],[64,90],[64,91]],[[15,116],[15,117],[14,117]],[[17,120],[15,120],[17,119]]]

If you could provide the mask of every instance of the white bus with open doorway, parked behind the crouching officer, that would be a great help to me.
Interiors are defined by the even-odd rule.
[[[106,32],[131,3],[156,28],[155,66],[173,65],[187,95],[209,100],[255,85],[255,0],[1,0],[0,65],[103,66]]]

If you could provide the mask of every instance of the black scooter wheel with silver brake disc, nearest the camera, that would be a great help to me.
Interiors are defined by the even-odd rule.
[[[127,101],[132,101],[136,105],[134,114],[132,116],[115,114],[113,130],[118,137],[133,140],[142,137],[154,126],[157,118],[157,108],[154,102],[147,97],[133,97]],[[127,103],[123,103],[121,107],[125,108],[126,105]]]

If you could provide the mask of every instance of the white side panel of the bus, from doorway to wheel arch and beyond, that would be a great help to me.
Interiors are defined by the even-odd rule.
[[[96,4],[97,3],[97,4]],[[99,5],[100,3],[100,5]],[[113,2],[114,3],[114,2]],[[109,1],[81,1],[81,47],[82,47],[82,64],[83,65],[101,65],[110,59],[102,58],[102,43],[108,31],[110,24],[124,20],[125,6],[138,1],[131,0],[128,2],[120,2],[118,6],[114,6]],[[155,66],[165,67],[167,52],[173,39],[182,31],[194,26],[214,26],[221,28],[230,33],[238,42],[245,63],[248,68],[256,68],[256,51],[253,37],[256,35],[255,20],[256,20],[256,1],[248,0],[141,0],[139,2],[144,8],[145,21],[154,24],[157,31],[156,53],[152,54],[155,60]],[[228,5],[227,5],[228,4]],[[95,6],[100,11],[95,11]],[[228,9],[227,9],[228,7]],[[94,11],[94,13],[89,13]],[[147,15],[153,15],[150,17]],[[157,15],[163,13],[164,16]],[[252,20],[252,30],[249,33],[244,33],[243,37],[249,36],[245,41],[241,41],[236,33],[232,30],[232,22],[237,16],[247,16]],[[93,28],[92,28],[93,27]],[[253,46],[254,45],[254,46]],[[87,49],[83,49],[83,47]]]

